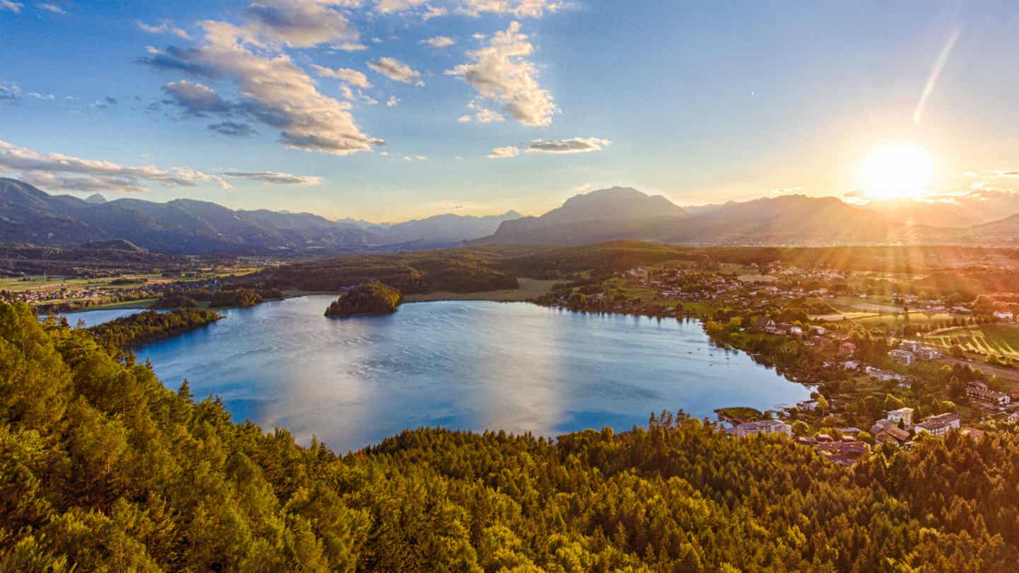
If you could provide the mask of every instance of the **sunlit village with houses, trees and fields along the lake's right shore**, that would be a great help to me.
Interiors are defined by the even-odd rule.
[[[874,449],[908,449],[952,430],[979,440],[978,426],[1019,421],[1013,358],[981,356],[952,335],[981,325],[1019,332],[1013,305],[880,292],[854,273],[779,264],[635,267],[578,282],[542,303],[699,318],[719,346],[815,388],[811,400],[774,411],[719,413],[735,437],[785,435],[852,465]]]

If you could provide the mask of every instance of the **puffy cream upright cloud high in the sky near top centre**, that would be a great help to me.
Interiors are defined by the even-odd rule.
[[[495,101],[502,110],[525,125],[549,125],[557,111],[552,95],[538,85],[537,67],[524,59],[534,48],[520,33],[520,22],[496,32],[488,46],[468,52],[473,63],[446,70],[460,75],[478,94]]]

